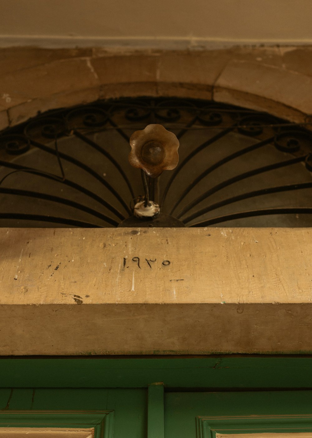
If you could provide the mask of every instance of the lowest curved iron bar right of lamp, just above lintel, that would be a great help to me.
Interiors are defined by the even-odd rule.
[[[233,219],[243,219],[264,215],[285,215],[285,214],[312,214],[312,207],[288,207],[288,208],[265,208],[263,210],[250,210],[248,212],[232,213],[230,215],[218,216],[212,219],[198,222],[190,227],[210,226],[220,222]]]

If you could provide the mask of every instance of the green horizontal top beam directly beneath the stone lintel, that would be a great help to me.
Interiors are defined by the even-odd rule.
[[[3,357],[2,388],[312,388],[312,356]]]

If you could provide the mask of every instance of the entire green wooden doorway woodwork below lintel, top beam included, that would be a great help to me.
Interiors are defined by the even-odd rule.
[[[220,362],[3,358],[0,427],[94,427],[95,438],[312,438],[311,357]]]

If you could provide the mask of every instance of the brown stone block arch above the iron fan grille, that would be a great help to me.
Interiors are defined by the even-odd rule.
[[[140,95],[213,99],[297,123],[312,113],[311,48],[0,52],[0,129],[49,109]]]

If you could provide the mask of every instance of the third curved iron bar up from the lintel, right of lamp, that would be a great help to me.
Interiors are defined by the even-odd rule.
[[[296,164],[298,162],[302,162],[305,160],[307,155],[292,158],[289,160],[281,161],[274,164],[269,164],[268,166],[259,167],[258,169],[249,170],[248,172],[241,173],[240,175],[236,175],[236,177],[229,178],[228,180],[222,181],[222,183],[215,185],[214,187],[211,187],[211,189],[207,190],[204,194],[201,196],[198,196],[198,198],[194,199],[190,204],[188,204],[184,209],[177,215],[177,219],[180,219],[181,216],[183,216],[185,213],[187,213],[191,208],[195,207],[195,205],[199,204],[199,202],[204,201],[204,199],[208,198],[208,196],[211,196],[211,194],[216,193],[217,191],[223,189],[224,187],[228,187],[231,184],[234,184],[238,181],[245,180],[246,178],[253,177],[255,175],[259,175],[260,173],[269,172],[270,170],[274,169],[280,169],[281,167],[285,166],[291,166],[292,164]]]

